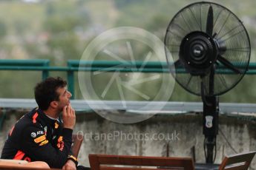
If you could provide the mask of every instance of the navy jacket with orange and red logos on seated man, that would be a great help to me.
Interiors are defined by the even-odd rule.
[[[1,159],[45,161],[51,168],[59,169],[69,158],[77,163],[70,152],[72,132],[63,128],[60,118],[53,120],[42,110],[33,109],[10,129]]]

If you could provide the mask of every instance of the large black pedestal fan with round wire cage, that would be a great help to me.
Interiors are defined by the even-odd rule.
[[[180,86],[203,100],[206,163],[214,162],[218,95],[243,78],[250,52],[249,35],[242,21],[213,2],[189,4],[172,18],[166,30],[165,55],[170,72]]]

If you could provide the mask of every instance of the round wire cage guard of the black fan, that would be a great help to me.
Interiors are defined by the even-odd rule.
[[[210,85],[210,73],[205,76],[191,75],[183,64],[174,69],[174,62],[180,59],[180,44],[189,33],[200,31],[206,33],[207,16],[209,7],[213,9],[213,34],[214,40],[220,48],[226,47],[225,52],[220,52],[223,58],[234,64],[240,70],[240,74],[234,72],[216,61],[214,64],[214,90]],[[183,7],[170,24],[165,34],[165,55],[168,67],[172,73],[175,70],[175,79],[180,86],[194,95],[201,94],[201,81],[203,81],[203,93],[206,96],[222,95],[236,86],[245,75],[251,54],[251,44],[246,28],[237,16],[226,7],[214,2],[196,2]],[[225,72],[225,74],[220,73]]]

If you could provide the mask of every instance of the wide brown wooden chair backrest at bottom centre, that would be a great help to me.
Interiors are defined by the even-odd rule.
[[[153,168],[152,166],[155,167],[154,169],[194,170],[194,162],[190,157],[144,157],[89,154],[89,162],[91,169],[93,170],[149,169],[145,166],[151,166],[151,170]]]

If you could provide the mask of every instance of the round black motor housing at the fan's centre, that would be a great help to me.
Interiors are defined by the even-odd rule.
[[[207,75],[217,60],[217,44],[207,33],[188,33],[180,44],[180,60],[191,75]]]

